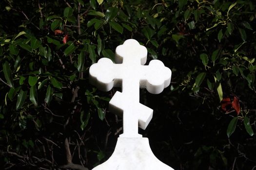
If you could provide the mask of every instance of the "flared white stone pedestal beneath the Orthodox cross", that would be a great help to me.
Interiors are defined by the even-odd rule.
[[[114,153],[93,170],[174,170],[152,153],[147,137],[118,137]]]

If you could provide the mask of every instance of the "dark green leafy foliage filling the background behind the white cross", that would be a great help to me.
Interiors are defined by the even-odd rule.
[[[155,111],[140,133],[157,157],[175,170],[255,168],[254,0],[1,0],[0,6],[0,169],[71,162],[92,169],[113,153],[122,119],[109,113],[108,102],[117,89],[98,91],[88,70],[101,57],[114,60],[129,38],[147,47],[148,62],[159,59],[172,69],[161,94],[140,91],[140,102]],[[222,101],[234,96],[238,113],[237,104]]]

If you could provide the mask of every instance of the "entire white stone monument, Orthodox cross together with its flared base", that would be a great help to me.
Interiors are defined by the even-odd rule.
[[[147,49],[134,39],[116,49],[116,64],[101,58],[90,67],[90,82],[102,91],[121,87],[109,102],[109,110],[123,117],[123,134],[118,137],[114,153],[93,170],[173,170],[152,153],[148,138],[138,134],[146,129],[153,110],[139,103],[139,88],[158,94],[170,85],[171,70],[159,60],[147,60]]]

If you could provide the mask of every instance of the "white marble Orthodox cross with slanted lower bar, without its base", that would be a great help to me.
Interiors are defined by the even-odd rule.
[[[112,112],[123,115],[123,134],[120,137],[142,137],[138,126],[145,129],[153,116],[153,110],[139,103],[139,87],[158,94],[170,85],[171,70],[159,60],[147,60],[147,49],[134,39],[126,40],[116,49],[116,63],[101,58],[90,67],[90,82],[102,91],[121,87],[109,102]]]

